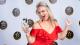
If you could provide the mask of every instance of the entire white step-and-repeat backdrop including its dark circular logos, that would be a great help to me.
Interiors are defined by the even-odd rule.
[[[22,31],[24,22],[33,24],[39,17],[36,5],[46,2],[62,29],[65,20],[72,25],[64,40],[55,45],[80,45],[80,0],[0,0],[0,45],[27,45],[26,34]]]

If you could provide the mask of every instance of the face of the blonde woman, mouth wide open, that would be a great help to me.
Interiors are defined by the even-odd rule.
[[[38,11],[38,14],[42,20],[48,20],[49,13],[48,13],[46,7],[40,6],[37,8],[37,11]]]

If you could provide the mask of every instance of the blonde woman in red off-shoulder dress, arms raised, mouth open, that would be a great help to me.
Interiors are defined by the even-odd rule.
[[[66,23],[65,29],[62,31],[57,21],[54,20],[50,8],[43,2],[37,5],[36,13],[40,20],[34,23],[32,30],[29,31],[28,27],[23,27],[29,45],[53,45],[55,40],[65,38],[69,22]]]

